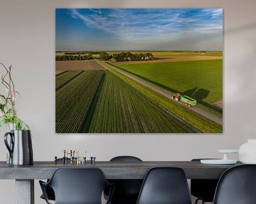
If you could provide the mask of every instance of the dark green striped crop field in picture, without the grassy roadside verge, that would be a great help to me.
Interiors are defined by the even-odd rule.
[[[57,133],[195,131],[108,71],[83,71],[56,91]]]

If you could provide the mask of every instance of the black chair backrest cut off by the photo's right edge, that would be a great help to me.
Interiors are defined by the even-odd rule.
[[[255,204],[256,165],[240,165],[225,171],[220,177],[213,203]]]

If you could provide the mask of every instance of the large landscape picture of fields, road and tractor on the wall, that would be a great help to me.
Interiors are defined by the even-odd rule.
[[[56,8],[56,133],[222,133],[222,8]]]

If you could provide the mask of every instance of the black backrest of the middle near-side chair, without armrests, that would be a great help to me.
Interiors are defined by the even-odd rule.
[[[137,204],[191,204],[183,169],[156,167],[146,174]]]

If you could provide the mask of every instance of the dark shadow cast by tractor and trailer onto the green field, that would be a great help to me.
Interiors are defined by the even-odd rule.
[[[212,108],[215,111],[219,111],[222,113],[222,108],[218,108],[216,106],[213,106],[209,103],[206,103],[203,101],[203,99],[207,98],[210,94],[210,91],[206,89],[198,89],[198,87],[194,87],[193,89],[188,89],[187,91],[184,91],[182,95],[190,96],[191,98],[195,98],[198,103],[201,103],[203,106],[207,106],[208,108]]]

